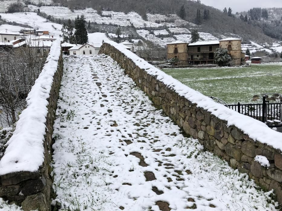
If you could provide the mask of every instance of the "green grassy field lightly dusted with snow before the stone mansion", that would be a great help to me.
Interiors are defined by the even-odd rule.
[[[240,68],[180,68],[163,71],[206,96],[228,104],[251,103],[256,94],[282,94],[282,65]]]

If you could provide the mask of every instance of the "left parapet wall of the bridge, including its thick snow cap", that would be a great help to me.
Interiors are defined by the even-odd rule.
[[[60,41],[55,41],[0,160],[0,197],[25,211],[50,209],[53,121],[62,74]]]

